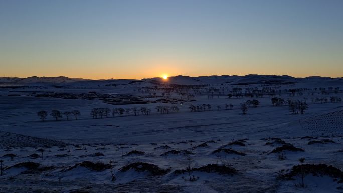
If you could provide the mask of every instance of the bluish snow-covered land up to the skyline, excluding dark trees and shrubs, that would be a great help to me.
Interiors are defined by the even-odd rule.
[[[305,187],[300,185],[300,175],[295,176],[295,180],[280,177],[300,164],[301,156],[305,164],[327,164],[342,170],[343,103],[311,102],[311,98],[316,97],[343,98],[342,88],[337,93],[328,89],[342,87],[343,81],[338,78],[249,75],[171,77],[165,82],[158,78],[134,82],[80,81],[66,77],[59,77],[55,82],[52,78],[44,82],[37,77],[6,80],[0,88],[0,159],[6,167],[0,176],[0,192],[341,192],[343,189],[343,183],[337,183],[342,179],[339,176],[308,174]],[[191,89],[189,92],[194,98],[188,99],[176,91],[168,92],[167,97],[162,95],[165,90],[152,89],[169,87],[168,84],[204,85],[204,91],[194,93]],[[233,96],[229,99],[227,94],[237,87],[242,88],[243,93],[246,88],[255,87],[306,88],[309,90],[302,91],[302,96],[299,92],[295,96],[285,92],[275,97],[306,100],[309,109],[303,115],[293,115],[288,106],[273,106],[268,94],[262,98]],[[314,90],[319,87],[325,88],[327,93]],[[212,97],[210,88],[219,89],[221,93],[214,92]],[[104,103],[101,97],[92,100],[36,97],[45,93],[88,92],[146,97],[144,100],[150,101],[178,99],[183,103],[111,105]],[[156,97],[151,97],[154,92]],[[258,99],[260,105],[249,107],[248,113],[243,115],[239,104],[253,99]],[[233,108],[226,110],[224,104],[230,103]],[[190,112],[190,105],[202,104],[211,104],[211,111]],[[159,105],[177,105],[180,111],[158,114],[155,107]],[[217,105],[221,106],[220,110]],[[147,107],[152,112],[93,119],[90,111],[96,107]],[[44,122],[39,120],[38,111],[50,113],[53,109],[79,110],[81,116],[69,121],[65,118],[54,121],[50,116]],[[228,145],[238,141],[241,143]],[[287,144],[304,151],[271,153]],[[44,150],[43,158],[40,149]],[[29,161],[40,165],[31,165],[30,169],[20,165]],[[97,170],[78,165],[85,161],[103,163],[104,168]],[[165,172],[139,171],[145,168],[143,165],[125,170],[124,166],[136,162],[156,165]],[[107,164],[115,165],[114,181]],[[200,168],[208,164],[225,165],[237,172],[220,174],[194,170],[190,173],[196,180],[190,181],[188,172],[177,171],[189,165]]]

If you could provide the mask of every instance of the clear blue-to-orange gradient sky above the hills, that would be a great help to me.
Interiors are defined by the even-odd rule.
[[[343,1],[0,0],[0,76],[343,77]]]

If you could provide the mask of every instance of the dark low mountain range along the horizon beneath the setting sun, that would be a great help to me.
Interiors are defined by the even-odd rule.
[[[293,83],[336,83],[343,84],[343,78],[330,78],[320,76],[310,76],[306,78],[295,78],[288,75],[257,75],[249,74],[245,76],[237,75],[222,75],[222,76],[174,76],[168,77],[164,80],[160,77],[145,78],[141,80],[135,79],[107,79],[107,80],[90,80],[82,78],[69,78],[65,76],[59,77],[0,77],[0,84],[15,84],[15,85],[30,85],[30,84],[62,84],[62,85],[125,85],[136,83],[149,83],[149,84],[182,84],[182,85],[202,85],[202,84],[232,84],[232,85],[248,85],[248,84],[293,84]]]

